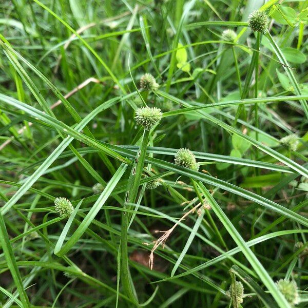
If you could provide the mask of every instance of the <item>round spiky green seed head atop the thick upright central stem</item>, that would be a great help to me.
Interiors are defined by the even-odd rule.
[[[157,107],[141,107],[136,110],[136,123],[142,125],[145,130],[150,130],[159,123],[162,111]]]

